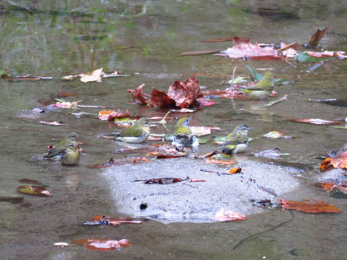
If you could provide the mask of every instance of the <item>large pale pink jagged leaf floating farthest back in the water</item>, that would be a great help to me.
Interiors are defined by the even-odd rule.
[[[252,44],[249,42],[249,38],[232,37],[232,48],[228,48],[221,53],[214,54],[221,56],[228,56],[230,58],[243,58],[248,57],[250,59],[258,59],[261,57],[265,60],[282,59],[277,51],[271,47],[260,47],[258,43]]]

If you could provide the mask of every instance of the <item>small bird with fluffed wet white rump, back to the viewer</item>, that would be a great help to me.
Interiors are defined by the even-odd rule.
[[[174,140],[172,144],[177,147],[182,146],[198,146],[199,142],[193,135],[192,130],[188,124],[192,118],[181,118],[177,121],[174,132]]]

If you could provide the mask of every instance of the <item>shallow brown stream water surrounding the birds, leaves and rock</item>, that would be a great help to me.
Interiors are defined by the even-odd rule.
[[[323,66],[308,73],[314,63],[296,62],[288,69],[285,61],[244,61],[214,56],[175,55],[184,51],[223,49],[231,42],[205,43],[202,40],[221,37],[251,37],[252,43],[306,43],[317,27],[330,27],[320,45],[327,50],[345,51],[346,17],[342,1],[320,1],[316,5],[285,1],[146,1],[136,2],[7,2],[0,4],[0,60],[9,74],[66,76],[103,67],[104,71],[120,70],[124,77],[105,78],[102,83],[81,83],[78,79],[16,81],[1,80],[0,96],[0,196],[22,196],[16,193],[28,178],[48,186],[48,198],[24,195],[21,204],[0,202],[1,259],[323,259],[345,258],[346,205],[344,197],[313,189],[318,165],[327,151],[346,142],[346,130],[329,125],[290,122],[293,118],[337,120],[346,117],[344,107],[331,106],[308,99],[346,99],[345,60],[331,58]],[[84,6],[82,6],[82,4]],[[271,6],[279,12],[264,13]],[[141,14],[144,11],[144,14]],[[120,49],[121,47],[129,47]],[[85,167],[88,163],[122,158],[112,151],[119,144],[98,138],[97,133],[117,128],[95,115],[76,118],[70,110],[27,113],[42,107],[39,99],[55,98],[58,92],[78,95],[66,101],[83,100],[83,105],[100,105],[129,109],[131,115],[156,116],[166,109],[128,104],[127,89],[145,84],[168,90],[169,84],[183,81],[196,73],[202,86],[225,89],[234,67],[237,75],[248,75],[252,68],[274,68],[274,78],[293,80],[293,84],[275,84],[278,96],[288,100],[269,107],[266,101],[231,101],[212,98],[217,105],[198,109],[192,125],[219,126],[211,136],[225,136],[236,125],[246,123],[253,129],[248,151],[279,147],[280,162],[302,163],[313,169],[301,173],[301,192],[288,199],[321,199],[342,209],[340,214],[305,214],[296,211],[265,211],[247,216],[248,220],[231,223],[172,223],[150,220],[140,225],[119,227],[86,227],[86,220],[105,214],[121,217],[110,195],[108,181],[101,170]],[[283,70],[284,69],[284,70]],[[135,73],[139,73],[138,75]],[[100,93],[104,93],[103,95]],[[100,109],[81,109],[97,114]],[[180,117],[181,115],[174,115]],[[39,121],[63,121],[64,126],[47,126]],[[168,121],[169,128],[175,120]],[[341,121],[343,122],[343,121]],[[344,123],[344,122],[343,122]],[[292,139],[265,139],[270,131],[297,136]],[[62,167],[59,162],[33,161],[47,145],[56,144],[68,132],[81,135],[86,154],[76,167]],[[153,132],[162,133],[163,128]],[[52,140],[54,139],[54,140]],[[150,141],[147,141],[149,143]],[[205,153],[214,145],[200,145]],[[249,160],[262,160],[248,156]],[[269,161],[269,160],[266,160]],[[294,173],[293,173],[294,174]],[[283,223],[283,224],[281,224]],[[281,224],[281,225],[280,225]],[[269,230],[269,231],[267,231]],[[267,231],[267,232],[265,232]],[[261,233],[263,232],[263,233]],[[257,235],[254,235],[257,234]],[[252,236],[254,235],[254,236]],[[54,243],[78,238],[123,237],[134,245],[120,251],[96,252],[83,246],[56,248]],[[247,239],[247,237],[249,237]],[[240,241],[242,243],[238,244]],[[236,246],[236,248],[235,248]],[[235,249],[235,250],[233,250]]]

